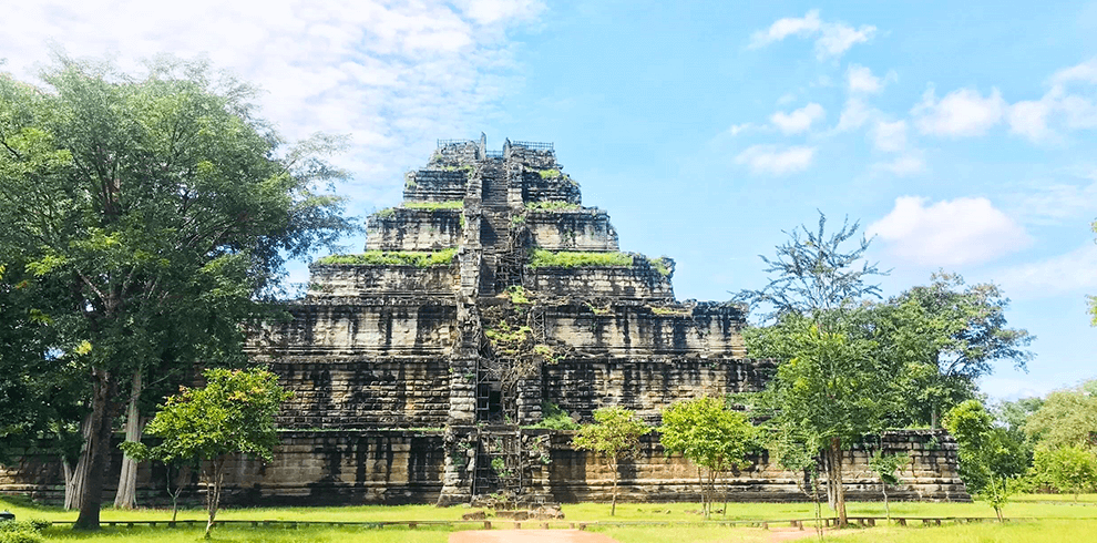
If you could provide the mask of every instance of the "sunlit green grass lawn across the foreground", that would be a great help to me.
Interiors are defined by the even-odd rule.
[[[72,521],[75,512],[55,508],[43,508],[23,500],[0,500],[0,509],[8,509],[21,520],[47,519],[51,521]],[[767,542],[772,533],[758,527],[717,526],[703,524],[701,516],[693,511],[699,510],[697,503],[623,503],[617,506],[616,516],[609,516],[608,504],[580,503],[563,506],[566,522],[636,522],[667,521],[675,522],[674,526],[612,526],[593,525],[592,530],[605,533],[622,543],[648,543],[664,541],[685,541],[689,543],[709,542]],[[439,509],[431,505],[360,505],[344,508],[263,508],[263,509],[228,509],[218,514],[223,520],[276,520],[297,522],[322,521],[453,521],[469,511],[468,508],[457,506]],[[850,515],[883,515],[883,504],[879,502],[852,502]],[[730,503],[727,520],[786,520],[807,519],[813,514],[810,503]],[[823,514],[828,511],[824,509]],[[992,516],[993,511],[984,503],[916,503],[900,502],[892,504],[892,514],[903,516]],[[1038,518],[1039,521],[1011,522],[1005,525],[997,523],[982,524],[946,524],[941,527],[890,527],[854,529],[854,533],[843,533],[842,542],[848,543],[906,543],[922,541],[941,542],[973,542],[973,543],[1013,543],[1013,542],[1059,542],[1059,541],[1097,541],[1097,494],[1083,495],[1075,503],[1073,496],[1029,494],[1015,496],[1013,503],[1005,509],[1006,516]],[[103,510],[104,521],[166,521],[171,511],[143,509],[136,511]],[[204,511],[184,510],[180,520],[202,520]],[[714,519],[722,520],[724,515]],[[683,524],[687,523],[687,524]],[[529,522],[525,525],[531,526]],[[882,523],[881,523],[882,524]],[[509,527],[509,523],[496,522],[496,527]],[[563,526],[564,523],[557,523]],[[775,524],[776,525],[776,524]],[[473,526],[469,526],[473,527]],[[407,527],[372,529],[363,526],[242,526],[224,525],[215,530],[215,541],[230,542],[410,542],[430,543],[444,542],[449,536],[445,527],[420,525],[416,530]],[[193,542],[202,539],[203,525],[194,527],[106,527],[98,533],[72,532],[68,527],[53,527],[45,535],[54,541],[140,541],[148,543]],[[828,537],[830,539],[830,537]],[[804,540],[812,541],[814,537]]]

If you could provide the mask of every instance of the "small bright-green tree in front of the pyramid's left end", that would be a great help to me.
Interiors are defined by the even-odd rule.
[[[163,441],[147,453],[140,443],[126,448],[165,462],[202,462],[206,484],[206,539],[209,539],[225,479],[225,462],[242,453],[269,461],[278,443],[274,417],[293,393],[264,369],[209,369],[203,388],[181,387],[167,398],[147,431]]]

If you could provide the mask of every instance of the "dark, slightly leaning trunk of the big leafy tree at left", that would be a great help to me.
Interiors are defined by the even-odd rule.
[[[103,484],[111,460],[117,383],[110,371],[92,370],[92,411],[88,416],[84,450],[76,463],[75,484],[79,488],[80,515],[73,529],[99,530],[99,510],[103,503]],[[81,464],[84,464],[81,467]]]

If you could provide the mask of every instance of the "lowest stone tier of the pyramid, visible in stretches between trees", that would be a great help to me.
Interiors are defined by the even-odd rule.
[[[542,434],[544,430],[523,430]],[[612,477],[605,463],[571,445],[574,432],[551,437],[547,477],[539,491],[563,502],[601,501],[611,498]],[[235,459],[227,469],[224,501],[228,505],[351,505],[434,503],[442,484],[445,443],[442,431],[290,431],[280,434],[274,461]],[[956,474],[956,445],[946,433],[927,430],[889,432],[883,439],[889,452],[906,452],[911,464],[901,473],[895,500],[970,501]],[[880,483],[868,469],[870,451],[847,452],[845,482],[850,500],[879,500]],[[807,501],[797,485],[802,474],[776,467],[765,453],[750,468],[736,473],[728,489],[730,501]],[[121,452],[112,458],[104,500],[114,496],[121,469]],[[19,464],[0,468],[0,493],[28,495],[60,503],[64,495],[61,465],[55,457],[28,454]],[[657,434],[644,438],[639,457],[621,468],[622,501],[698,501],[697,469],[678,455],[666,455]],[[165,473],[160,464],[143,463],[139,471],[142,505],[170,503],[164,493]],[[184,492],[186,503],[201,499],[197,478]],[[721,496],[722,498],[722,496]]]

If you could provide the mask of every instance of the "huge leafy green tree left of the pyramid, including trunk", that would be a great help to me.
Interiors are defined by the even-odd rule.
[[[319,158],[337,142],[284,150],[255,90],[204,64],[133,78],[62,57],[41,80],[0,75],[0,227],[32,287],[64,287],[51,352],[90,383],[70,494],[76,527],[98,527],[122,406],[152,372],[240,360],[286,259],[349,224],[325,193],[342,173]]]

